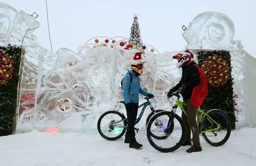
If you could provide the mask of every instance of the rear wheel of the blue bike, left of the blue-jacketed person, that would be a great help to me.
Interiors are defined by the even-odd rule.
[[[116,140],[121,138],[127,126],[127,120],[124,120],[125,116],[118,111],[107,111],[103,113],[97,123],[98,132],[104,139]],[[114,124],[117,121],[120,123]]]

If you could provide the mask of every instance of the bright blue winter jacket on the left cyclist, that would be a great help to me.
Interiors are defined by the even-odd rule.
[[[133,76],[131,82],[131,73]],[[140,79],[139,77],[132,71],[128,71],[128,73],[124,76],[122,81],[122,93],[125,104],[129,102],[138,103],[139,102],[139,93],[144,96],[148,96],[148,92],[141,89]]]

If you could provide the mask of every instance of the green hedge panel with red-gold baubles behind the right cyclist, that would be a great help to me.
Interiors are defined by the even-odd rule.
[[[222,111],[228,114],[231,122],[231,127],[232,129],[235,129],[236,116],[234,113],[235,109],[234,109],[233,87],[232,87],[233,79],[231,77],[232,67],[230,66],[229,51],[225,51],[225,50],[202,51],[201,50],[201,51],[198,51],[197,54],[198,54],[198,65],[200,67],[209,66],[209,63],[214,63],[216,59],[220,60],[220,63],[218,63],[217,66],[215,65],[216,67],[210,64],[212,68],[208,69],[208,71],[206,71],[205,67],[202,67],[208,79],[208,94],[206,97],[212,99],[212,100],[205,101],[204,103],[205,110],[210,110],[213,108],[221,109]],[[223,76],[226,76],[226,80]],[[220,81],[218,81],[218,79]],[[215,83],[211,80],[215,81]]]

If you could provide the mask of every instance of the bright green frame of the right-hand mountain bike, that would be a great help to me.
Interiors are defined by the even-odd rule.
[[[177,100],[175,101],[175,105],[173,106],[173,109],[172,109],[172,112],[175,114],[176,113],[176,109],[177,107],[180,107],[182,109],[182,112],[185,113],[185,115],[187,116],[187,112],[185,111],[184,107],[183,106],[187,106],[186,103],[182,102],[180,100],[180,97],[177,96]],[[207,113],[205,113],[202,109],[197,109],[197,111],[200,113],[200,117],[199,117],[199,124],[201,124],[202,122],[202,117],[203,116],[207,116],[207,120],[209,120],[209,122],[214,125],[216,124],[217,127],[216,128],[213,128],[213,129],[209,129],[209,130],[205,130],[205,131],[201,131],[201,134],[202,133],[207,133],[207,132],[211,132],[211,131],[216,131],[218,130],[219,128],[221,128],[221,125],[218,124],[215,120],[213,120]],[[169,126],[169,125],[168,125]]]

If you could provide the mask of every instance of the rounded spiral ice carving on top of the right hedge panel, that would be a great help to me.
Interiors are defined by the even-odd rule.
[[[204,12],[197,15],[183,32],[188,49],[225,49],[232,46],[235,28],[222,13]]]

